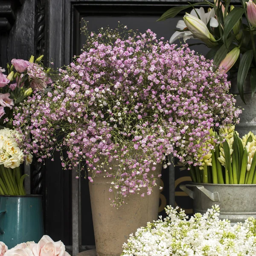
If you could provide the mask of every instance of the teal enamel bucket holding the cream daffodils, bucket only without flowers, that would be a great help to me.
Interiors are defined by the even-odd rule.
[[[41,195],[0,195],[0,241],[8,248],[44,236]]]

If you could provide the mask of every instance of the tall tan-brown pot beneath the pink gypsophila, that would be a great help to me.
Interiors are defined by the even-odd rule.
[[[159,164],[154,173],[158,175],[161,170]],[[119,209],[111,207],[109,200],[113,198],[113,192],[108,191],[112,181],[111,177],[98,175],[89,184],[97,256],[119,256],[129,234],[158,218],[160,178],[151,195],[130,195]]]

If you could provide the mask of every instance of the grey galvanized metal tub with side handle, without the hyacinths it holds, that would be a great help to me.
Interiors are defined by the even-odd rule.
[[[229,185],[192,183],[180,185],[193,200],[193,212],[204,214],[212,205],[220,207],[220,218],[232,224],[243,222],[250,216],[256,218],[256,184]]]

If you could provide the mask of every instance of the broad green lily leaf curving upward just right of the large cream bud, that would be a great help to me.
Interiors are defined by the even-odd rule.
[[[227,37],[230,34],[233,27],[240,20],[246,9],[241,7],[235,7],[225,18],[224,21],[224,33],[223,33],[223,42],[227,45]]]

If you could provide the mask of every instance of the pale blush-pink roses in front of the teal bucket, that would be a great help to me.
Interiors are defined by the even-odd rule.
[[[43,236],[36,244],[34,241],[17,244],[12,249],[0,242],[0,256],[70,256],[61,241],[55,242]]]

